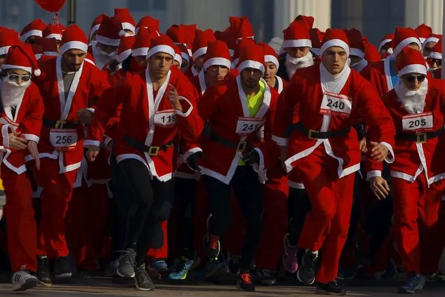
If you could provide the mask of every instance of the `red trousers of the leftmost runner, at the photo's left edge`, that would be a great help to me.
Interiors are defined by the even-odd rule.
[[[37,271],[37,227],[34,219],[32,188],[26,172],[21,175],[1,165],[1,178],[5,188],[8,250],[13,271],[26,266]]]

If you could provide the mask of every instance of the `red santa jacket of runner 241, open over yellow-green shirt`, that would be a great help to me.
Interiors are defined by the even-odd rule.
[[[199,147],[185,152],[184,159],[201,150],[205,156],[199,163],[201,172],[229,184],[242,152],[249,145],[256,144],[260,162],[253,168],[265,181],[266,168],[273,165],[270,163],[273,158],[270,158],[269,144],[278,93],[263,82],[266,85],[263,104],[253,118],[249,114],[240,77],[224,80],[205,90],[198,102],[198,112],[203,122],[208,122],[210,133],[202,136]],[[263,125],[265,145],[258,147],[256,135]]]

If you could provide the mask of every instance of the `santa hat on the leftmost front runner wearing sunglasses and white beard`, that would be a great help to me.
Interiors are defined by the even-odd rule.
[[[31,45],[26,45],[23,42],[13,45],[8,50],[8,56],[3,65],[1,65],[2,70],[6,69],[21,69],[34,74],[38,77],[42,72],[38,69],[38,64],[36,57],[33,53],[33,47]]]

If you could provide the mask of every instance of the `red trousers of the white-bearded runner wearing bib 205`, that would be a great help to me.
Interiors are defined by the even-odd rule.
[[[434,226],[437,223],[427,227],[422,220],[419,220],[419,214],[422,216],[422,213],[424,213],[426,200],[435,200],[431,196],[440,195],[442,197],[443,188],[441,188],[442,183],[431,184],[428,188],[423,172],[414,182],[393,178],[394,236],[397,250],[407,273],[426,273],[426,271],[421,271],[420,266],[421,244],[419,231],[422,232],[426,239],[428,239],[428,236],[438,236],[440,232],[439,234],[434,234]],[[437,214],[435,217],[437,218]],[[428,253],[430,248],[426,246],[427,250],[424,252]],[[430,257],[427,256],[426,259],[422,259],[422,262],[428,261],[428,259]],[[430,266],[430,264],[426,264],[426,266]],[[434,272],[432,271],[432,273]]]

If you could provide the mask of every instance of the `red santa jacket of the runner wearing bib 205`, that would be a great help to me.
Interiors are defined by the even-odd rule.
[[[396,90],[391,90],[383,97],[383,102],[393,118],[396,127],[396,160],[390,164],[391,177],[414,182],[416,177],[425,172],[428,184],[445,178],[445,134],[424,139],[426,134],[444,129],[445,88],[435,79],[428,80],[428,93],[422,113],[408,113],[398,99]],[[418,141],[407,140],[400,134],[412,135]],[[418,134],[416,136],[416,134]],[[437,132],[439,134],[439,132]],[[441,152],[441,153],[438,153]],[[366,160],[367,178],[382,176],[382,163]]]

